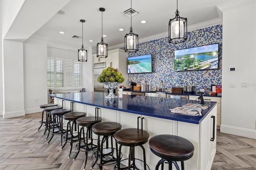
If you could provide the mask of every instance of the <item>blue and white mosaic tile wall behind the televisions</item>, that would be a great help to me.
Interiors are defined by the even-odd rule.
[[[174,50],[219,43],[219,69],[197,71],[174,71]],[[139,44],[139,51],[129,53],[128,57],[152,54],[152,73],[128,74],[128,84],[131,81],[141,83],[146,81],[151,89],[161,87],[171,91],[172,87],[195,86],[194,91],[211,85],[222,84],[222,25],[211,26],[188,32],[188,40],[184,43],[168,43],[168,37]]]

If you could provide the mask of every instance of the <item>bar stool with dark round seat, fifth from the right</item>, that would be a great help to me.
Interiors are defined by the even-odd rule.
[[[70,142],[70,152],[68,155],[68,159],[70,158],[70,154],[72,151],[73,143],[77,142],[79,140],[79,127],[76,125],[76,119],[81,118],[81,117],[86,117],[86,113],[84,112],[71,112],[71,113],[66,113],[63,116],[64,120],[67,120],[67,129],[66,129],[66,136],[64,136],[65,144],[62,146],[61,149],[65,147],[67,142]],[[72,125],[71,125],[72,123]],[[77,126],[77,127],[76,127]],[[74,130],[73,130],[74,128]],[[74,135],[74,131],[78,129],[77,135]]]

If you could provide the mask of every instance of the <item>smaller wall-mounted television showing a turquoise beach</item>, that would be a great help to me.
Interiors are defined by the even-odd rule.
[[[127,73],[151,73],[152,55],[140,55],[127,58]]]

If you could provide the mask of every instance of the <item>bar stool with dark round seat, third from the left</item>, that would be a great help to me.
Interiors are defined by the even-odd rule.
[[[60,143],[62,147],[62,134],[63,134],[63,115],[66,113],[70,113],[72,112],[72,109],[56,109],[50,112],[50,114],[53,116],[52,119],[52,137],[50,138],[50,140],[48,141],[47,144],[50,143],[50,141],[52,140],[54,134],[60,134]],[[58,131],[55,131],[55,128],[58,128]],[[50,128],[49,128],[49,132],[50,133]]]

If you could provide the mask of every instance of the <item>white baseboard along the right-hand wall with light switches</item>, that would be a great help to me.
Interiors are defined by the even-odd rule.
[[[220,125],[220,132],[256,139],[256,130]]]

